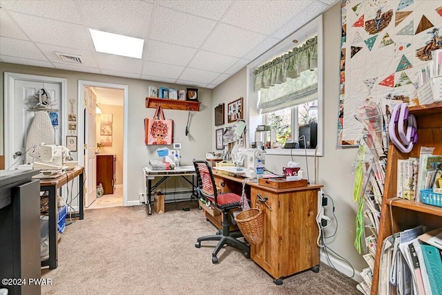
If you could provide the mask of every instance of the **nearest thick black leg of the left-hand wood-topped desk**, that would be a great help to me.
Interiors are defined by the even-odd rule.
[[[58,267],[57,251],[57,189],[47,187],[49,193],[49,269]]]

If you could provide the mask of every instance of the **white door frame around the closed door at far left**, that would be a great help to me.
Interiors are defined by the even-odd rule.
[[[41,82],[41,83],[55,83],[61,85],[61,115],[63,118],[66,117],[66,79],[57,77],[47,77],[39,75],[28,75],[21,73],[10,73],[5,72],[4,77],[4,92],[3,92],[3,139],[4,139],[4,151],[5,155],[5,169],[8,169],[12,165],[11,155],[13,153],[13,144],[10,140],[12,134],[10,132],[10,125],[14,122],[14,97],[15,97],[15,80],[23,80],[30,82]],[[12,98],[11,98],[12,97]],[[65,120],[65,119],[64,119]],[[66,146],[66,125],[68,121],[62,122],[61,124],[61,144]]]

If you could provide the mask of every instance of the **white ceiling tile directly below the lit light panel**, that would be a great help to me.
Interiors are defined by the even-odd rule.
[[[95,55],[98,60],[99,68],[115,70],[117,72],[141,74],[143,66],[142,59],[109,55],[107,53],[96,53]]]

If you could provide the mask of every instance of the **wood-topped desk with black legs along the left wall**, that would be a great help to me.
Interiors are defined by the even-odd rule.
[[[48,191],[49,193],[49,258],[41,261],[41,267],[49,265],[49,269],[58,267],[58,251],[57,251],[57,189],[64,186],[71,180],[78,177],[79,187],[79,219],[84,219],[84,168],[75,167],[66,171],[58,178],[41,179],[40,191]]]

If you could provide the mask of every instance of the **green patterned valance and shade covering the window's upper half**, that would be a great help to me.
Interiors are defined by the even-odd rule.
[[[263,113],[312,100],[318,91],[318,37],[253,71]]]

